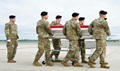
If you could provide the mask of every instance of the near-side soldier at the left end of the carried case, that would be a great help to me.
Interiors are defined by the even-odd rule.
[[[33,65],[42,66],[38,62],[45,51],[46,66],[53,66],[53,63],[50,61],[50,41],[48,37],[53,36],[52,30],[50,29],[48,19],[48,12],[43,11],[41,13],[42,19],[37,22],[36,33],[38,34],[38,52],[35,56]]]

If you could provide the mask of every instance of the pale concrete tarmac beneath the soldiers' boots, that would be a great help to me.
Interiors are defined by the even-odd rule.
[[[120,42],[109,42],[107,45],[106,61],[111,66],[110,69],[99,68],[99,59],[96,61],[96,68],[90,68],[87,64],[83,67],[73,67],[69,61],[70,67],[64,67],[61,63],[54,63],[54,66],[36,67],[32,65],[37,52],[37,42],[19,42],[15,60],[17,63],[7,63],[7,50],[5,42],[0,42],[0,71],[119,71],[120,69]],[[65,48],[64,48],[65,49]],[[86,49],[87,57],[92,54],[93,50]],[[67,52],[61,52],[59,58],[63,59]],[[42,62],[44,55],[39,60]]]

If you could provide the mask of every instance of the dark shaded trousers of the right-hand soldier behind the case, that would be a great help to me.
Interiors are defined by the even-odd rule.
[[[78,44],[79,44],[79,49],[80,49],[79,51],[81,52],[81,59],[84,60],[85,55],[86,55],[84,39],[79,39]]]

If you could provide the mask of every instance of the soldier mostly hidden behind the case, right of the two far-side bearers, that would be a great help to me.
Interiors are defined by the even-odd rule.
[[[84,19],[85,19],[85,17],[79,18],[79,25],[80,26],[84,25]],[[85,60],[85,54],[86,54],[86,52],[85,52],[85,39],[79,39],[78,44],[79,44],[79,49],[81,51],[81,59],[82,59],[81,63],[87,63],[87,61]]]

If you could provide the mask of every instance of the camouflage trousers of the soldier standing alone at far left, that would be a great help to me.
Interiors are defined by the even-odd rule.
[[[17,51],[18,41],[17,39],[11,39],[11,42],[7,42],[7,58],[8,60],[12,60]]]

